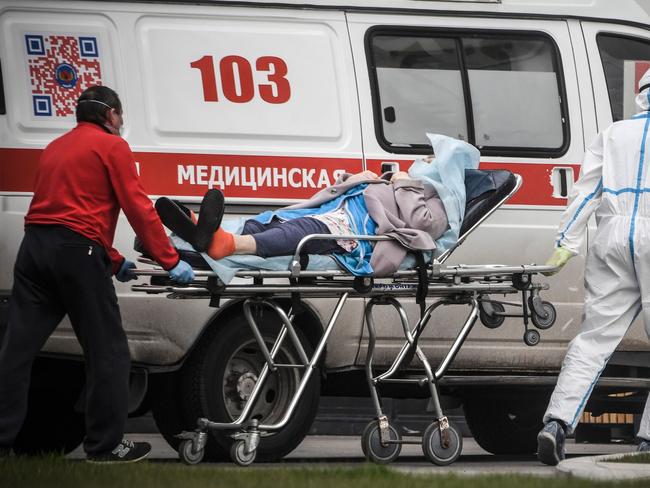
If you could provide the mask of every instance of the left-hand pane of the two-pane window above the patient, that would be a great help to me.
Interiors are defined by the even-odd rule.
[[[388,144],[426,145],[426,132],[467,140],[456,40],[375,36],[372,52],[383,137]]]

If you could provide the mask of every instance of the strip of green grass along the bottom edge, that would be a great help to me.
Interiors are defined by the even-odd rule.
[[[435,467],[432,467],[435,470]],[[595,483],[564,477],[519,475],[409,475],[383,466],[293,468],[259,464],[249,468],[223,465],[185,466],[177,462],[92,465],[63,457],[0,460],[2,487],[126,488],[647,488],[648,481]]]

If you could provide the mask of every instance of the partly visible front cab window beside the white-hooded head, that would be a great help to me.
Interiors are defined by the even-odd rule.
[[[606,34],[599,34],[597,42],[612,120],[629,119],[638,112],[634,98],[639,79],[650,68],[650,42]]]

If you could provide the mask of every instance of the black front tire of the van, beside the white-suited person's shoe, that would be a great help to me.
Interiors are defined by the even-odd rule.
[[[476,392],[463,402],[474,439],[492,454],[533,454],[548,393]]]

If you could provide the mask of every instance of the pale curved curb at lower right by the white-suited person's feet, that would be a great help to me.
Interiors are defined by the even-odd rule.
[[[650,464],[608,462],[630,454],[636,454],[636,451],[565,459],[556,469],[569,476],[590,480],[650,479]]]

